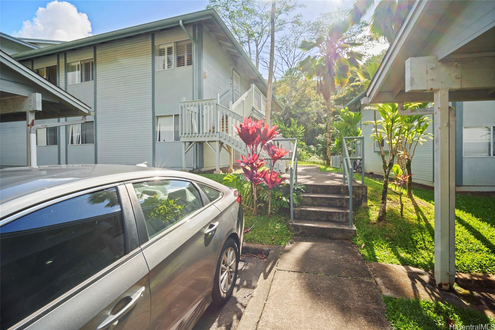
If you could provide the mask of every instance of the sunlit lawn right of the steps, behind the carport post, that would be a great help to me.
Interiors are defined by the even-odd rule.
[[[326,167],[332,171],[332,168]],[[434,269],[434,192],[413,186],[413,198],[403,195],[404,218],[399,196],[389,188],[387,221],[376,222],[382,195],[380,180],[365,178],[368,206],[354,210],[356,236],[352,241],[367,262]],[[456,194],[456,271],[495,274],[494,196]]]

